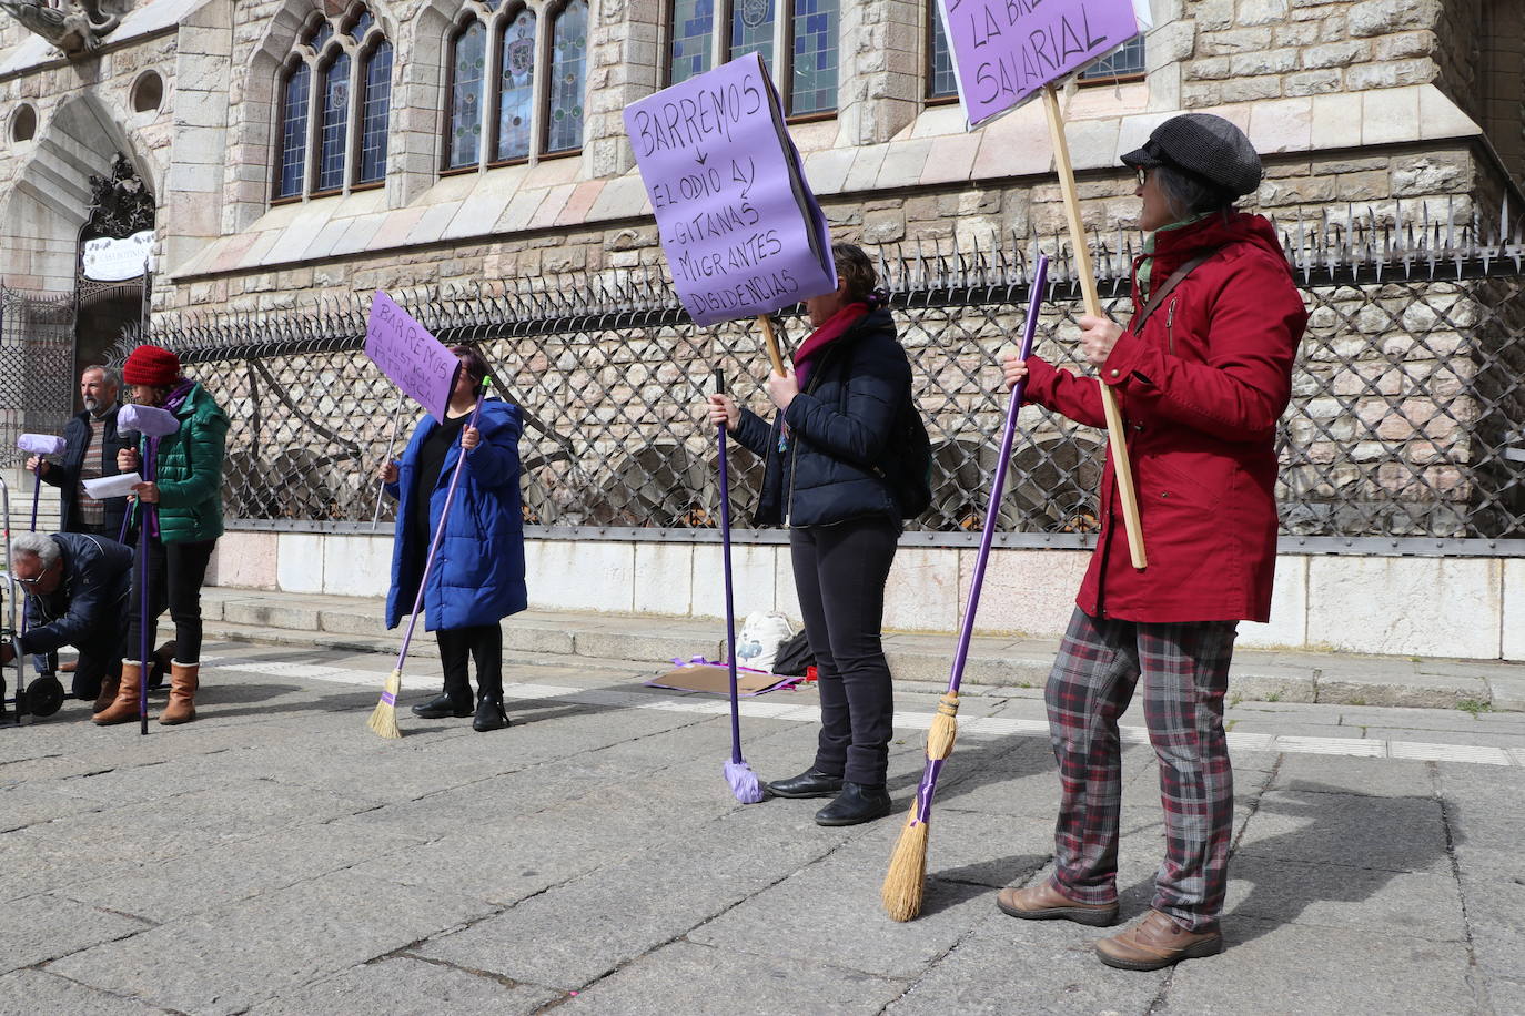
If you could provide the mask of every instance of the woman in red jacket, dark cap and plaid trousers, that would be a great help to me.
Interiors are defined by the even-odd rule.
[[[1052,877],[1003,890],[1013,917],[1116,920],[1118,717],[1144,682],[1159,757],[1165,862],[1141,922],[1096,943],[1103,963],[1154,970],[1223,947],[1234,780],[1223,734],[1234,634],[1264,621],[1276,564],[1276,420],[1307,312],[1270,224],[1234,209],[1260,157],[1228,120],[1173,117],[1122,157],[1148,233],[1128,327],[1081,317],[1081,352],[1122,407],[1147,568],[1133,568],[1109,458],[1101,535],[1049,675],[1061,803]],[[1095,379],[1008,358],[1026,398],[1104,427]]]

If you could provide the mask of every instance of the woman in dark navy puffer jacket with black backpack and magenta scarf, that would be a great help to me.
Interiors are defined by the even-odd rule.
[[[822,826],[852,826],[891,810],[884,789],[894,702],[880,643],[884,580],[901,510],[886,475],[910,402],[910,364],[874,292],[862,248],[834,244],[837,289],[805,302],[814,329],[795,369],[769,378],[779,413],[766,423],[724,395],[709,419],[764,457],[755,521],[788,527],[795,586],[820,687],[814,763],[769,783],[778,797],[833,797]]]

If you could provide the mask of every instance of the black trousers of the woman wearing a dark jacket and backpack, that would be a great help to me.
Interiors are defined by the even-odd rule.
[[[849,783],[884,783],[895,711],[881,626],[884,582],[900,526],[889,518],[795,529],[795,589],[816,655],[820,739],[816,769]]]

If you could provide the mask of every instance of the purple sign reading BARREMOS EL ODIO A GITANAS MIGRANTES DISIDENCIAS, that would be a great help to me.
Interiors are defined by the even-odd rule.
[[[625,129],[695,323],[837,288],[827,219],[758,53],[631,102]]]

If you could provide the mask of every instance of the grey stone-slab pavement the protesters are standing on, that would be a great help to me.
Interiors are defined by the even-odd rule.
[[[653,664],[514,653],[509,730],[403,710],[384,742],[390,667],[218,643],[188,727],[0,727],[0,1013],[1525,1013],[1525,714],[1238,701],[1228,949],[1125,973],[1095,929],[994,906],[1049,861],[1039,690],[965,696],[897,925],[935,695],[897,698],[897,816],[828,830],[738,804],[724,702]],[[749,701],[747,760],[799,771],[814,717],[810,689]],[[1162,853],[1130,739],[1125,920]]]

